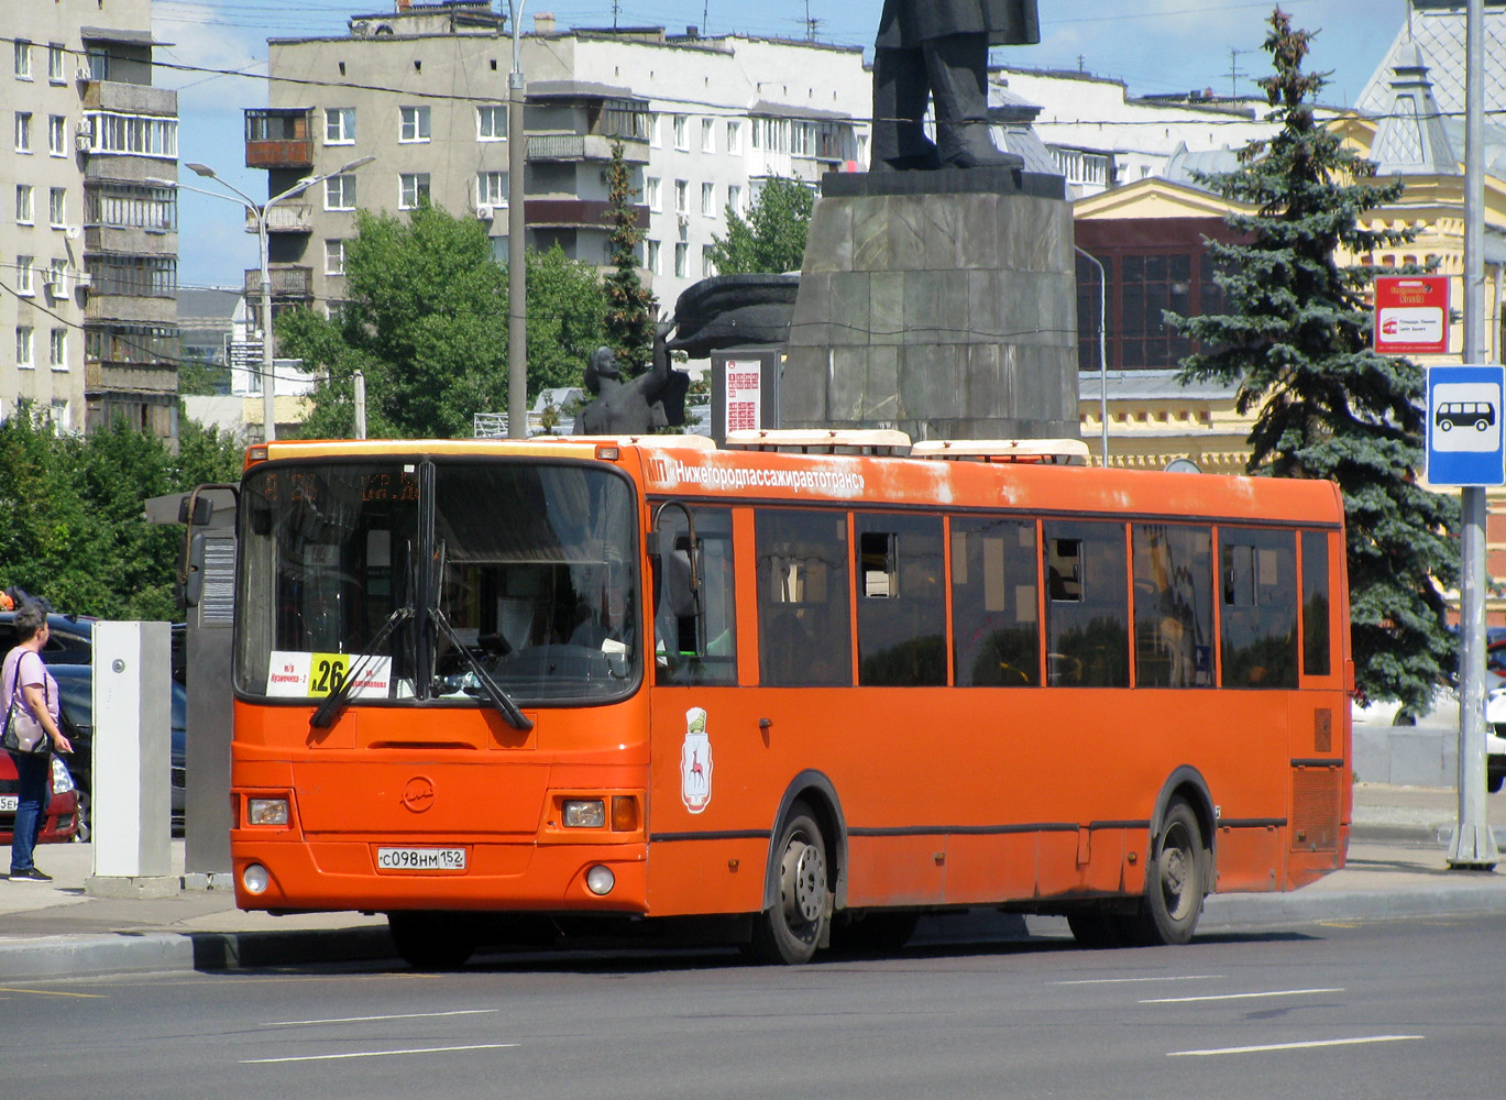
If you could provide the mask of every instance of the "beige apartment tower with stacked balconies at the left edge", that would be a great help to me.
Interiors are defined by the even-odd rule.
[[[178,93],[152,87],[151,26],[151,0],[8,5],[0,416],[176,435],[176,199],[154,181],[178,175]]]

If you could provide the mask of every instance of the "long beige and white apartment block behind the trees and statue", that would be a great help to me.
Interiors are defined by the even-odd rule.
[[[245,163],[268,196],[336,172],[273,206],[274,312],[328,307],[345,292],[355,209],[428,199],[488,226],[506,259],[511,29],[486,3],[405,3],[357,15],[337,38],[270,39],[268,107],[245,112]],[[526,226],[532,249],[605,265],[605,169],[623,146],[639,188],[642,265],[664,309],[714,274],[724,209],[762,181],[866,163],[870,80],[861,50],[694,27],[559,30],[521,36]],[[337,172],[363,157],[370,163]],[[255,226],[248,226],[255,228]],[[245,273],[247,292],[259,273]]]

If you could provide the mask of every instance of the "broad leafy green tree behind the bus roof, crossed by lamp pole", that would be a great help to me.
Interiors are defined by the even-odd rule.
[[[325,375],[300,434],[354,434],[352,378],[361,371],[369,435],[470,435],[474,413],[508,407],[508,273],[492,259],[485,228],[422,206],[407,223],[358,211],[357,234],[337,315],[277,318],[285,354]],[[578,384],[602,339],[601,282],[559,246],[529,253],[527,264],[529,390]]]

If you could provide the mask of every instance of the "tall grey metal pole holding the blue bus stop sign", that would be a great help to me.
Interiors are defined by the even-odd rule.
[[[1470,0],[1464,112],[1464,362],[1485,362],[1485,0]],[[1449,868],[1491,871],[1500,859],[1485,815],[1485,488],[1459,490],[1459,821]]]

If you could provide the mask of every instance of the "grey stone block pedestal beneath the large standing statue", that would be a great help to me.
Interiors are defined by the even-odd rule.
[[[1065,181],[977,169],[825,176],[788,351],[782,428],[1075,438]]]

